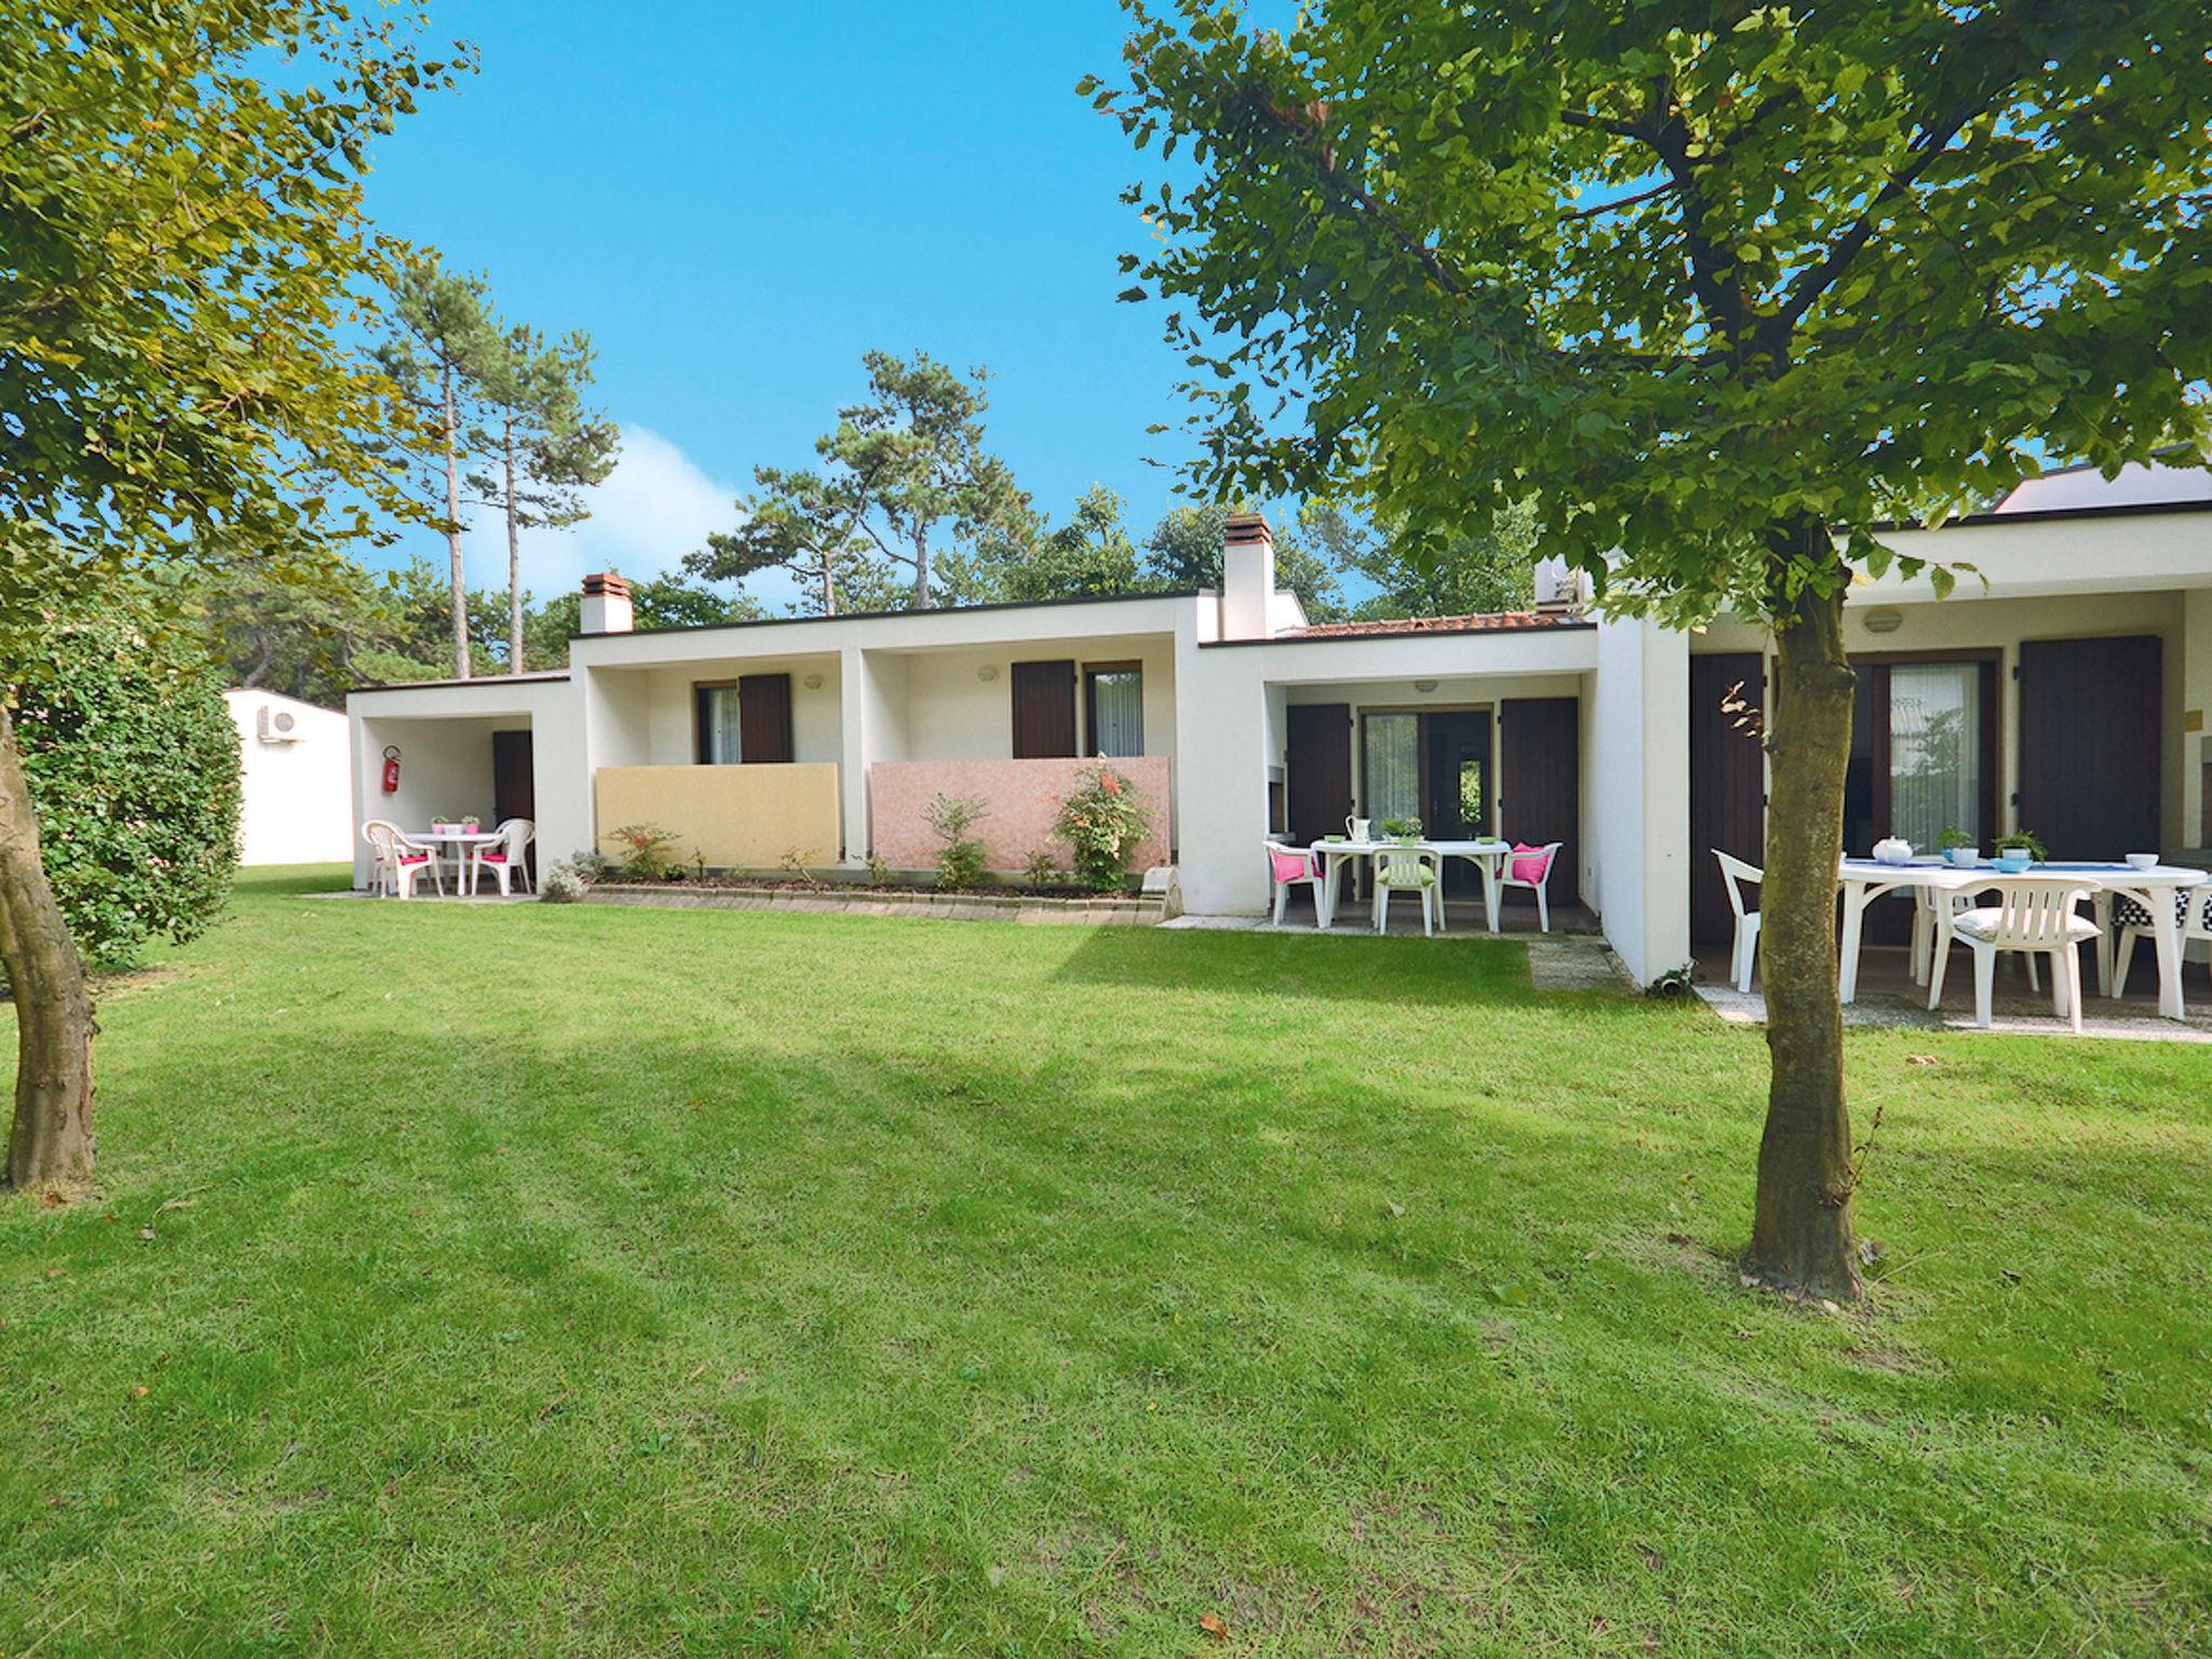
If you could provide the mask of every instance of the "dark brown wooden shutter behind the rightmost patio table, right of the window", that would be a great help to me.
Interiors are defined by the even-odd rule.
[[[2020,646],[2020,827],[2053,858],[2159,849],[2157,635]]]

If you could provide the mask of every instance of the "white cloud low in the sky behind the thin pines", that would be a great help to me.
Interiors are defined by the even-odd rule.
[[[522,586],[544,599],[575,588],[586,571],[675,571],[686,553],[706,546],[708,531],[737,524],[737,493],[650,427],[624,427],[615,471],[588,491],[591,518],[568,531],[522,531]],[[462,557],[471,586],[507,586],[507,524],[498,513],[478,509]]]

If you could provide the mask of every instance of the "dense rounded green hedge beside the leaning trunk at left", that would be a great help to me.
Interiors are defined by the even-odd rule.
[[[239,858],[239,730],[197,641],[88,622],[44,641],[15,690],[15,741],[55,898],[86,967],[188,940]]]

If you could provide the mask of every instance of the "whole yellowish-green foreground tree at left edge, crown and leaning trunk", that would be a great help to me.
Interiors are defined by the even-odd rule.
[[[354,349],[387,263],[367,146],[449,62],[407,7],[0,0],[0,960],[9,1181],[93,1168],[93,993],[55,907],[4,688],[133,568],[221,566],[396,509],[407,420]]]

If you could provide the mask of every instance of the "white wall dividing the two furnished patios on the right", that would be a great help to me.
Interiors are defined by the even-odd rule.
[[[1637,984],[1690,960],[1690,641],[1650,622],[1597,626],[1584,825],[1588,902]]]

